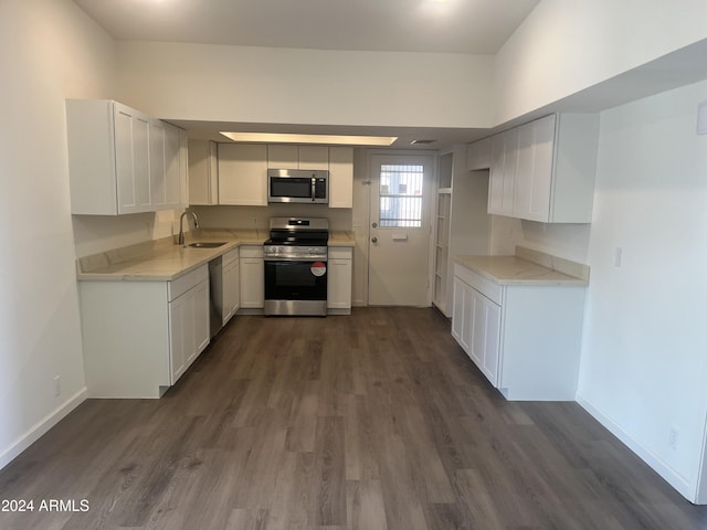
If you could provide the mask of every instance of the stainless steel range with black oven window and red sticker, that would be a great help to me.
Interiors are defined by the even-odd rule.
[[[323,218],[272,218],[265,261],[265,315],[327,314],[327,243]]]

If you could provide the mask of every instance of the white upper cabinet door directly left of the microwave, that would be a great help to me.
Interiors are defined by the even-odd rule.
[[[267,146],[219,146],[219,204],[267,205]]]

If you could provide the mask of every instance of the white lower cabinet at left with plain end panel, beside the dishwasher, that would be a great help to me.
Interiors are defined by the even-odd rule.
[[[89,398],[159,398],[209,344],[209,267],[78,283]]]

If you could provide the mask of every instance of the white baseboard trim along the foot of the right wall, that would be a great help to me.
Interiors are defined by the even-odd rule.
[[[610,415],[604,414],[599,407],[594,406],[591,401],[579,392],[577,393],[577,403],[591,414],[594,420],[606,427],[611,434],[616,436],[626,447],[635,453],[639,458],[645,462],[655,473],[663,477],[673,488],[675,488],[688,501],[695,504],[697,492],[695,486],[690,485],[685,478],[668,466],[659,456],[641,444],[631,434],[621,427]]]

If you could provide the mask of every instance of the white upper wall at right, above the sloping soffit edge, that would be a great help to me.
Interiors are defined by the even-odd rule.
[[[494,123],[698,42],[705,20],[704,0],[542,0],[495,57]]]

